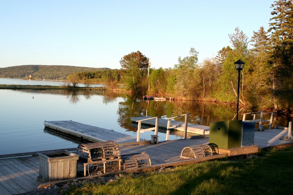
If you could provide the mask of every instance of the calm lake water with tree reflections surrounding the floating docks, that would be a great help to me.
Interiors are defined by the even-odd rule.
[[[4,84],[2,80],[0,84]],[[44,85],[49,85],[47,83],[51,82]],[[73,120],[136,137],[137,128],[131,125],[130,120],[134,116],[168,118],[191,113],[188,122],[209,126],[210,122],[232,120],[236,113],[236,108],[228,105],[197,101],[142,101],[141,97],[121,92],[0,89],[0,103],[0,155],[78,145],[44,132],[44,120]],[[178,119],[184,121],[183,117]],[[276,120],[276,123],[282,126],[287,121]],[[151,134],[154,132],[144,132],[141,138],[150,140]],[[166,134],[159,132],[159,136],[159,140],[165,140]],[[181,136],[170,135],[170,139]]]

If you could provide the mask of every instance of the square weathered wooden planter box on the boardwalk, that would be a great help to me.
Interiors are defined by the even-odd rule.
[[[40,171],[38,180],[52,182],[76,178],[76,161],[79,156],[67,150],[38,153]]]

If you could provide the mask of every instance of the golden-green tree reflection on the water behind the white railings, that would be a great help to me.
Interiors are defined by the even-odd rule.
[[[125,101],[119,102],[117,122],[127,131],[137,131],[131,126],[131,117],[161,116],[171,118],[191,113],[189,123],[209,126],[210,122],[232,120],[235,115],[234,108],[213,102],[199,101],[143,101],[135,96],[127,96]],[[184,122],[184,117],[175,120]]]

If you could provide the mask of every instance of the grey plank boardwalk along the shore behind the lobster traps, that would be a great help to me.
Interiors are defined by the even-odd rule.
[[[255,145],[260,149],[270,146],[293,146],[292,141],[281,140],[288,134],[287,130],[265,130],[263,132],[255,132]],[[169,166],[178,164],[179,162],[190,161],[180,158],[180,153],[184,147],[207,144],[208,137],[198,139],[178,139],[171,141],[162,141],[159,144],[132,145],[121,146],[121,154],[146,152],[151,158],[152,166],[160,166],[168,163]],[[280,145],[281,144],[281,145]],[[283,145],[282,145],[283,144]],[[125,145],[125,144],[121,144]],[[17,156],[17,154],[16,154]],[[1,155],[4,158],[4,155]],[[0,159],[0,194],[19,194],[33,191],[41,184],[37,180],[39,175],[39,158],[38,156],[15,157],[9,155],[7,159]],[[183,161],[183,162],[184,162]]]

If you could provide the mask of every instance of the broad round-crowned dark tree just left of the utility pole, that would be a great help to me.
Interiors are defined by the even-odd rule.
[[[119,62],[122,70],[124,70],[123,76],[127,90],[136,93],[141,92],[141,83],[142,79],[146,76],[149,58],[140,51],[136,51],[125,55]]]

